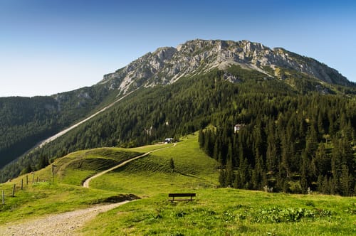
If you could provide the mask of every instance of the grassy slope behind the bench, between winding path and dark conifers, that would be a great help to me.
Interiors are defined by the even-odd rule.
[[[174,161],[174,170],[170,167],[170,159]],[[95,178],[90,187],[133,193],[140,197],[172,191],[195,191],[218,184],[216,164],[214,159],[199,150],[197,135],[190,135],[176,146],[153,152]]]

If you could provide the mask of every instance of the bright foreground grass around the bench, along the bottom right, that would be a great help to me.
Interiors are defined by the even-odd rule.
[[[166,194],[103,213],[85,235],[352,235],[355,198],[231,188],[196,190],[192,203]]]

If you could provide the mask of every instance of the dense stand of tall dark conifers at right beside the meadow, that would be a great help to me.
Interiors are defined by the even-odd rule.
[[[199,132],[201,149],[221,165],[221,186],[355,193],[355,100],[310,95],[244,102],[253,116],[228,112]],[[241,124],[238,132],[233,122]]]

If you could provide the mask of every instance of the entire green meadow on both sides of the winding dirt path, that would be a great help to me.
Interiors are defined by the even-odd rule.
[[[153,151],[110,173],[83,181],[122,161]],[[172,165],[173,162],[173,165]],[[197,134],[176,145],[78,151],[33,174],[0,185],[6,193],[0,224],[88,208],[112,199],[137,200],[101,213],[82,235],[355,235],[356,198],[291,195],[219,188],[214,159],[199,150]],[[53,172],[52,172],[53,171]],[[53,173],[53,176],[52,176]],[[34,177],[34,178],[33,178]],[[39,182],[37,182],[37,177]],[[25,181],[24,181],[25,180]],[[32,181],[35,180],[35,183]],[[11,197],[16,183],[15,196]],[[168,193],[197,193],[170,203]]]

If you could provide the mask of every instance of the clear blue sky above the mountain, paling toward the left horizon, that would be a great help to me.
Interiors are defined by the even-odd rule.
[[[0,97],[90,86],[194,38],[286,48],[356,81],[356,1],[0,0]]]

